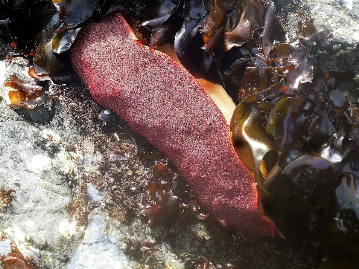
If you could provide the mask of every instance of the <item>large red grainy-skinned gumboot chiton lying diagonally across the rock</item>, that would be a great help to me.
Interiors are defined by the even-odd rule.
[[[222,225],[274,236],[273,223],[257,211],[255,183],[227,121],[183,67],[136,42],[119,14],[85,25],[70,55],[95,100],[163,151]]]

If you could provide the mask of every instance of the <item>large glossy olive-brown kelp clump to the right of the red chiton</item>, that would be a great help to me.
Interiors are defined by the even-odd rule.
[[[343,253],[354,260],[359,250],[359,122],[335,73],[316,68],[314,74],[313,43],[329,35],[309,24],[299,35],[304,47],[281,44],[267,59],[257,56],[243,77],[231,127],[279,233],[334,246],[340,263]]]

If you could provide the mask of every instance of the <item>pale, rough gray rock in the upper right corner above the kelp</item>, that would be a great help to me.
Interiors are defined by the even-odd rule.
[[[332,35],[319,46],[317,56],[319,66],[328,69],[348,68],[354,72],[355,78],[343,84],[349,90],[348,100],[359,102],[359,1],[332,0],[274,0],[277,9],[284,18],[288,41],[296,41],[298,19],[320,23],[329,29]],[[345,8],[352,4],[352,9]]]

